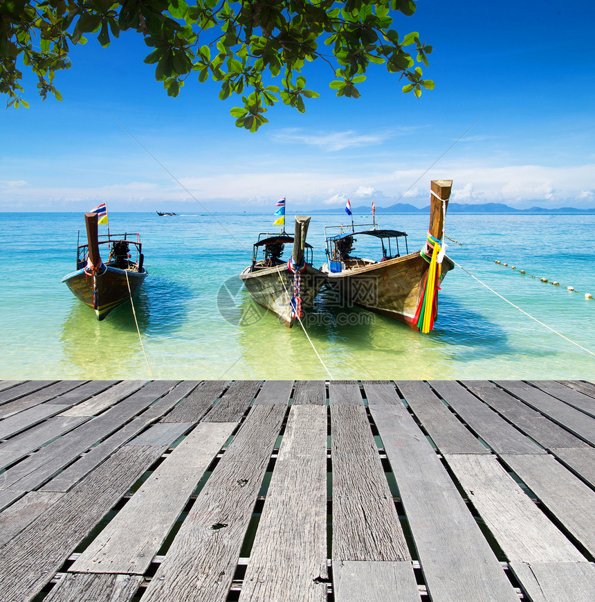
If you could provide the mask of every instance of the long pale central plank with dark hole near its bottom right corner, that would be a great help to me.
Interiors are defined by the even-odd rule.
[[[239,599],[326,602],[327,573],[327,408],[295,405]]]

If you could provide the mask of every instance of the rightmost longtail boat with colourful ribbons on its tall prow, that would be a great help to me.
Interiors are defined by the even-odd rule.
[[[455,267],[443,254],[443,224],[452,180],[433,180],[430,196],[430,229],[422,251],[409,253],[407,234],[373,229],[326,236],[327,263],[320,269],[327,285],[353,304],[429,332],[437,318],[437,290],[446,272]],[[354,236],[376,237],[381,242],[380,259],[353,256]],[[405,244],[405,254],[400,254]],[[434,251],[435,248],[435,251]]]

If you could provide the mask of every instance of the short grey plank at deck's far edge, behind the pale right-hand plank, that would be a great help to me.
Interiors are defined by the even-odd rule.
[[[427,384],[417,380],[399,380],[396,385],[443,454],[489,454],[489,450],[461,424]],[[385,402],[394,402],[394,393],[385,387],[378,387],[376,395],[382,395],[385,390],[390,396]]]

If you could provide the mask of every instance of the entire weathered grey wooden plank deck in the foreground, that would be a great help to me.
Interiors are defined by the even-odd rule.
[[[592,602],[588,381],[0,381],[2,602]]]

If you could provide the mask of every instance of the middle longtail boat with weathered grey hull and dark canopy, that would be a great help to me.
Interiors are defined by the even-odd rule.
[[[312,267],[312,246],[306,242],[310,218],[295,216],[295,235],[262,233],[253,247],[252,264],[239,274],[250,296],[291,328],[309,308],[324,284],[324,274]],[[264,236],[265,238],[261,238]],[[284,246],[293,243],[289,261]],[[262,259],[258,258],[262,251]]]

